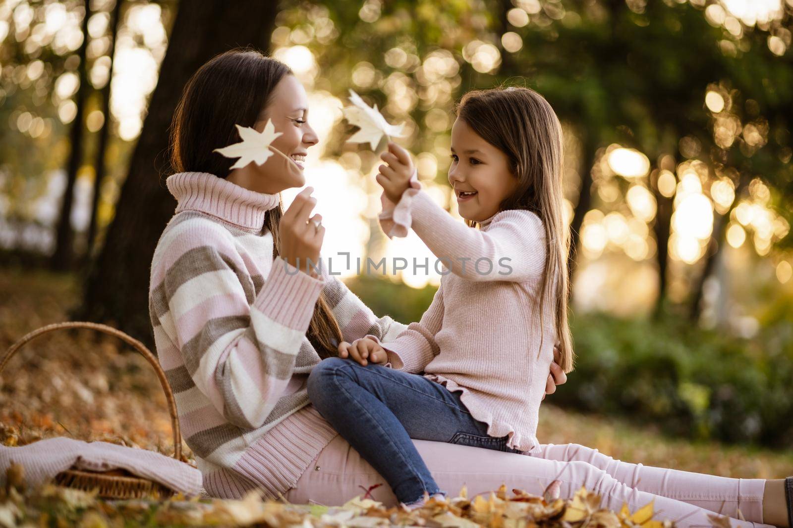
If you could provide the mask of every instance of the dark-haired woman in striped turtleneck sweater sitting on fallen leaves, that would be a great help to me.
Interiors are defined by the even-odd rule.
[[[281,212],[278,193],[305,184],[302,170],[275,155],[231,170],[232,160],[214,152],[237,141],[234,125],[262,131],[268,119],[282,134],[272,146],[301,165],[317,142],[305,90],[285,65],[258,52],[219,55],[186,85],[172,130],[177,173],[167,179],[178,207],[151,264],[151,324],[210,495],[234,498],[262,488],[293,502],[340,503],[382,479],[308,405],[306,379],[340,342],[369,334],[388,343],[406,326],[375,317],[324,268],[321,275],[298,271],[307,259],[319,260],[324,236],[320,215],[311,215],[311,188]],[[549,392],[554,380],[565,380],[558,366]],[[540,492],[548,483],[534,478],[532,465],[562,469],[596,453],[543,446],[548,458],[558,458],[550,461],[446,443],[416,447],[442,485],[467,482],[471,492],[504,480]],[[598,456],[596,464],[611,460]],[[569,465],[577,464],[586,462]],[[604,495],[619,488],[632,508],[643,505],[631,502],[633,487],[608,470],[587,464],[561,480]],[[736,490],[747,482],[731,481]],[[394,503],[389,488],[374,496]],[[760,500],[749,507],[759,518]],[[724,511],[737,515],[736,509],[737,503]]]

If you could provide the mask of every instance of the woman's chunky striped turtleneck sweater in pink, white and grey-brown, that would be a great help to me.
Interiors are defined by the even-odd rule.
[[[263,226],[279,195],[208,173],[167,179],[178,200],[151,262],[149,312],[182,435],[211,496],[292,488],[335,431],[305,382],[320,362],[305,336],[320,291],[344,340],[393,340],[406,327],[369,308],[325,267],[273,259]]]

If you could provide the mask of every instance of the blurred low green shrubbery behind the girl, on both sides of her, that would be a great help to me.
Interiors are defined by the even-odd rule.
[[[416,290],[358,276],[351,290],[374,313],[419,321],[434,287]],[[572,319],[576,369],[554,404],[658,424],[673,435],[767,446],[793,435],[793,306],[760,318],[753,340],[704,331],[688,321],[623,319],[585,313]]]

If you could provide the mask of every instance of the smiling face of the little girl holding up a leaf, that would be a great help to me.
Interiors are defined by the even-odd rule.
[[[482,139],[464,120],[451,127],[449,183],[458,211],[466,220],[482,222],[499,212],[499,205],[518,188],[509,158]]]

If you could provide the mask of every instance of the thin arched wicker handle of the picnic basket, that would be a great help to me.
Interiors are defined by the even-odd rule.
[[[16,343],[12,344],[8,350],[6,351],[6,355],[3,356],[2,361],[0,361],[0,372],[2,372],[3,368],[6,367],[6,363],[8,363],[11,356],[13,356],[17,350],[19,350],[24,344],[28,343],[29,341],[35,339],[42,334],[53,332],[55,330],[60,329],[92,329],[97,330],[98,332],[104,332],[106,334],[110,334],[111,336],[116,336],[119,339],[125,341],[127,344],[132,345],[136,351],[140,352],[140,355],[144,356],[146,360],[151,364],[151,367],[154,367],[155,372],[157,373],[157,378],[159,378],[160,385],[163,386],[163,392],[165,392],[165,399],[168,402],[168,412],[170,412],[170,429],[174,433],[174,458],[181,461],[182,460],[182,434],[179,431],[179,419],[178,414],[176,412],[176,401],[174,401],[174,393],[170,389],[170,385],[168,384],[168,380],[165,377],[165,372],[163,372],[163,367],[159,366],[159,362],[155,358],[155,356],[149,351],[146,346],[141,343],[139,340],[136,340],[134,337],[129,336],[125,332],[121,332],[121,330],[114,329],[112,326],[102,325],[100,323],[90,323],[86,321],[69,321],[64,323],[53,323],[52,325],[42,326],[40,329],[33,330],[33,332],[29,332],[22,336],[20,340]]]

